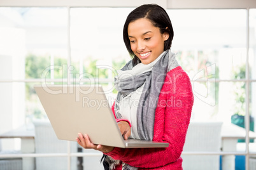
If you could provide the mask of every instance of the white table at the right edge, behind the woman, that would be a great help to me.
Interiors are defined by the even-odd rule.
[[[222,124],[222,151],[236,152],[238,139],[245,139],[245,134],[245,129],[235,124]],[[256,133],[250,131],[249,137],[256,138]],[[235,170],[235,155],[222,155],[222,170]]]

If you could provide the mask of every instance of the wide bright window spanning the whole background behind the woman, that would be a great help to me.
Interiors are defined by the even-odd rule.
[[[34,84],[88,84],[92,80],[104,86],[113,103],[117,95],[113,77],[131,59],[122,27],[133,9],[0,7],[0,133],[22,125],[30,129],[34,119],[47,119]],[[232,122],[233,115],[246,120],[249,114],[248,127],[254,131],[256,10],[167,9],[167,13],[174,29],[172,51],[192,80],[192,120]],[[20,150],[19,139],[1,139],[0,143],[0,150]],[[72,143],[64,143],[70,144],[72,148]],[[79,157],[79,161],[86,154],[101,157],[98,152],[78,151],[71,149],[59,157]],[[241,151],[247,158],[256,154],[254,150],[247,154],[245,147]],[[73,164],[70,159],[65,166]]]

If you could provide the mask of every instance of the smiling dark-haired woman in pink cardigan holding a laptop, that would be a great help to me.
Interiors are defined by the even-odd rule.
[[[133,59],[118,71],[113,114],[125,140],[166,141],[169,147],[114,148],[78,134],[79,145],[106,155],[106,169],[182,169],[194,98],[190,79],[171,52],[172,40],[171,20],[160,6],[139,6],[127,16],[124,42]]]

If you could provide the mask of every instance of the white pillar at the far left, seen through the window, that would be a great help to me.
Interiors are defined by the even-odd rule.
[[[0,37],[0,80],[25,79],[25,31],[0,27]],[[0,93],[0,133],[4,133],[25,123],[25,83],[0,82]],[[20,140],[3,140],[2,149],[20,149]]]

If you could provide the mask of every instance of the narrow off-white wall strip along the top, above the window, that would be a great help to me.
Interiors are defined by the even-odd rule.
[[[255,0],[1,0],[0,6],[136,7],[149,3],[157,3],[164,8],[256,8]]]

